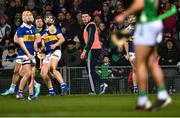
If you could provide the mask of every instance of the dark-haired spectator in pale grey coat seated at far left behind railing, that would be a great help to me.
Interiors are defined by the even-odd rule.
[[[17,53],[15,51],[15,46],[9,45],[7,53],[6,53],[6,50],[4,50],[3,55],[2,55],[3,68],[13,69],[15,66],[15,59],[13,58],[16,58],[16,57],[17,57]]]

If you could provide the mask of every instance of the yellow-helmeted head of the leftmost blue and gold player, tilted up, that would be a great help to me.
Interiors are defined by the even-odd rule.
[[[27,24],[32,24],[34,22],[33,14],[30,11],[24,11],[22,13],[22,21]]]

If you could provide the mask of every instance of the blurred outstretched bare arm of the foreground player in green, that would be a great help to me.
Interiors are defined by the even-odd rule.
[[[115,20],[117,22],[123,22],[126,17],[142,10],[145,6],[144,0],[134,0],[133,4],[123,13],[116,16]]]

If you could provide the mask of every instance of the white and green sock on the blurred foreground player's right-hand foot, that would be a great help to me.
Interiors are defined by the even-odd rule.
[[[168,97],[168,93],[166,91],[165,85],[158,86],[157,97],[159,100],[165,100]]]

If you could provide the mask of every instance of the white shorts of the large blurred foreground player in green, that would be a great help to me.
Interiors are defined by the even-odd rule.
[[[154,46],[162,41],[163,24],[161,20],[137,24],[134,45]]]

